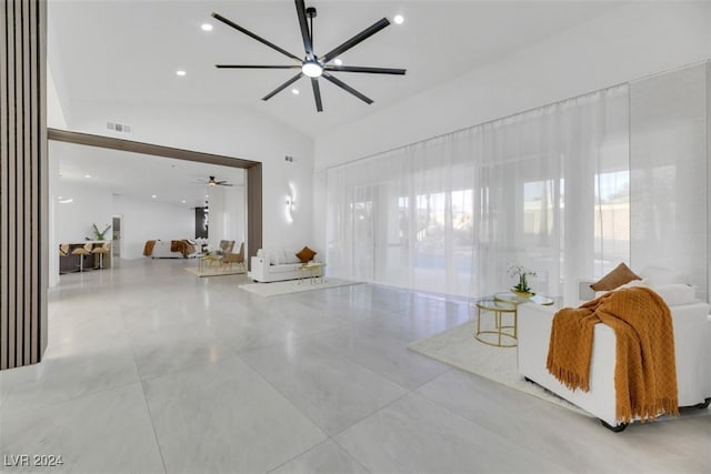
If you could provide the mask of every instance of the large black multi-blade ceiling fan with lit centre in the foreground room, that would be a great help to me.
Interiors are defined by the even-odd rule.
[[[264,95],[262,100],[271,99],[282,90],[287,89],[292,83],[297,82],[302,77],[307,75],[311,78],[311,87],[313,89],[313,99],[316,100],[316,109],[319,112],[323,111],[323,104],[321,103],[321,90],[319,88],[319,78],[321,77],[332,82],[333,84],[338,85],[339,88],[343,89],[344,91],[356,95],[358,99],[362,100],[363,102],[370,104],[370,103],[373,103],[373,101],[370,98],[365,97],[364,94],[351,88],[340,79],[336,78],[333,74],[331,74],[331,72],[365,72],[371,74],[400,74],[400,75],[405,73],[404,69],[368,68],[368,67],[360,67],[360,65],[331,64],[331,61],[333,61],[339,54],[342,54],[343,52],[353,48],[356,44],[372,37],[378,31],[389,26],[390,21],[388,21],[387,18],[383,18],[377,21],[375,23],[365,28],[360,33],[356,34],[353,38],[343,42],[341,46],[338,46],[331,51],[327,52],[326,54],[319,57],[313,52],[313,19],[317,16],[316,8],[313,7],[306,8],[303,0],[296,0],[296,4],[297,4],[297,16],[299,17],[299,27],[301,28],[301,37],[303,39],[303,48],[306,50],[306,57],[303,59],[297,57],[296,54],[290,53],[289,51],[286,51],[279,48],[277,44],[269,42],[263,38],[258,37],[257,34],[228,20],[227,18],[218,13],[212,13],[212,17],[214,17],[217,20],[223,22],[227,26],[234,28],[239,32],[247,34],[248,37],[259,41],[262,44],[268,46],[273,50],[279,51],[280,53],[296,61],[296,63],[291,65],[216,64],[216,67],[219,69],[299,69],[300,71],[297,75],[292,77],[287,82],[279,85],[277,89],[274,89],[273,91]]]

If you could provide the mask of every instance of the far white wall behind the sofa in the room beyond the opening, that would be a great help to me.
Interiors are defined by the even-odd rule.
[[[194,238],[196,213],[190,208],[120,195],[108,209],[122,218],[121,259],[143,258],[147,240]]]

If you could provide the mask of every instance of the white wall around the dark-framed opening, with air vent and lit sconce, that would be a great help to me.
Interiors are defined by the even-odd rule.
[[[111,132],[106,128],[107,121],[130,124],[131,133]],[[263,246],[312,245],[310,190],[313,142],[256,109],[72,103],[69,128],[78,132],[260,161]],[[284,161],[286,155],[293,157],[293,162]],[[289,183],[301,195],[293,222],[284,216]]]

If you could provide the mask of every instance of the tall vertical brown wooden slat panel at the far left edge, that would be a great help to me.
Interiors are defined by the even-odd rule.
[[[11,369],[47,347],[47,2],[0,13],[0,369]]]

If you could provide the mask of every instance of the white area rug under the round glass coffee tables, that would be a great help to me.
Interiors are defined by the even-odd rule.
[[[409,350],[481,375],[502,385],[515,389],[565,409],[592,416],[545,389],[523,380],[517,370],[517,347],[493,347],[474,339],[477,321],[413,342]]]

